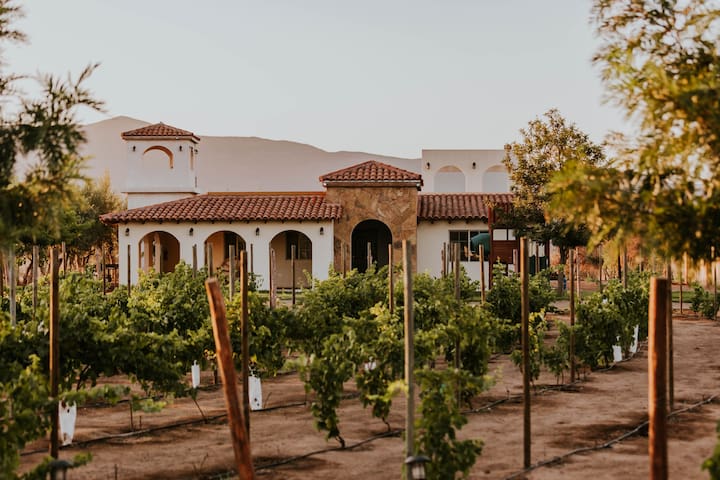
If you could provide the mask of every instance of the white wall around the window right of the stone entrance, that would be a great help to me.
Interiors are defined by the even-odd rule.
[[[443,243],[450,242],[450,230],[487,230],[485,222],[420,222],[418,224],[418,273],[427,272],[439,277],[442,272],[441,252]],[[480,262],[460,262],[468,276],[480,280]],[[485,262],[485,288],[488,288],[490,273],[488,262]]]

